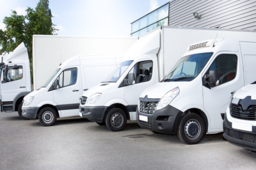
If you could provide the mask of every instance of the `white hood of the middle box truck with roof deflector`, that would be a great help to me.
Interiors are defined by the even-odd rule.
[[[99,83],[96,86],[93,86],[89,88],[89,90],[85,91],[82,96],[90,97],[91,95],[95,93],[104,93],[104,91],[109,91],[111,89],[115,89],[115,86],[117,86],[117,83],[111,82],[111,83]]]

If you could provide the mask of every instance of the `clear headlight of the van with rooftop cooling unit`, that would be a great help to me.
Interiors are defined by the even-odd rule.
[[[180,93],[180,89],[179,87],[176,87],[170,91],[168,91],[158,102],[157,106],[156,106],[156,110],[162,109],[165,106],[167,106],[168,104],[170,104],[170,102]]]

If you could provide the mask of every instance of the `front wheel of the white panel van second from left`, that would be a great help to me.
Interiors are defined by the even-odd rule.
[[[39,122],[43,126],[52,126],[57,119],[57,113],[52,107],[45,107],[39,112]]]

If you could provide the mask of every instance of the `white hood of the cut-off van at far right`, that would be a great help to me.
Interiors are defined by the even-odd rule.
[[[233,95],[233,97],[238,99],[244,99],[246,96],[251,96],[251,99],[256,100],[256,84],[248,84]]]

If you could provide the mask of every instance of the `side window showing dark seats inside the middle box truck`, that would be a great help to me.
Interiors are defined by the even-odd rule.
[[[152,61],[138,62],[136,65],[134,65],[134,67],[130,70],[129,74],[134,73],[135,84],[151,80],[152,66],[153,66]]]

